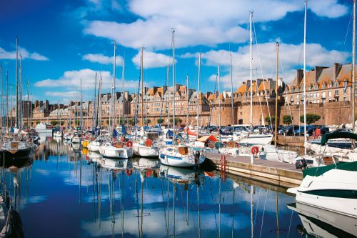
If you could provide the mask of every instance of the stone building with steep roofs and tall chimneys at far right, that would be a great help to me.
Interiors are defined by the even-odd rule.
[[[351,71],[351,64],[335,63],[331,67],[316,66],[306,72],[306,113],[321,116],[315,124],[352,122]],[[302,69],[296,71],[296,76],[286,87],[283,97],[285,102],[281,106],[281,122],[284,115],[291,115],[293,124],[300,124],[299,118],[303,116]]]

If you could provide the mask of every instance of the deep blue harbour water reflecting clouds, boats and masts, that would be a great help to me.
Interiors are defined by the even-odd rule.
[[[301,237],[285,189],[157,159],[102,159],[60,139],[44,139],[34,159],[5,172],[26,237]]]

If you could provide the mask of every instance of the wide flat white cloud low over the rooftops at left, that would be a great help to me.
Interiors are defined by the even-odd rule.
[[[95,84],[95,76],[97,72],[97,84],[99,83],[100,74],[102,78],[102,90],[108,91],[111,87],[112,75],[109,71],[94,71],[92,69],[80,69],[80,70],[71,70],[65,71],[64,75],[59,77],[59,79],[44,79],[41,81],[37,81],[35,86],[38,87],[46,87],[46,88],[54,88],[60,87],[63,89],[78,89],[81,86],[82,79],[82,90],[90,90],[94,89]],[[116,79],[116,91],[121,91],[121,79]],[[125,80],[125,89],[126,91],[131,89],[136,89],[138,87],[138,81],[134,80]],[[55,96],[52,93],[56,92],[48,92],[49,96]],[[65,94],[63,92],[58,92],[58,96],[61,94]],[[74,91],[66,92],[67,96],[73,96]],[[62,95],[63,96],[63,95]]]

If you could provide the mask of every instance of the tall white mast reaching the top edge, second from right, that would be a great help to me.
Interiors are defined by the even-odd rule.
[[[305,15],[303,21],[303,148],[306,155],[306,13],[308,11],[308,0],[305,0]],[[353,100],[354,101],[354,100]],[[353,120],[354,121],[354,120]]]

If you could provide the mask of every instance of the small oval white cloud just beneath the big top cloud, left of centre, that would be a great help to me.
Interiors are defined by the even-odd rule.
[[[159,54],[152,51],[143,51],[143,66],[144,69],[159,68],[172,64],[172,57],[166,54]],[[141,64],[141,51],[131,59],[136,67],[140,67]],[[177,62],[176,62],[177,63]]]

